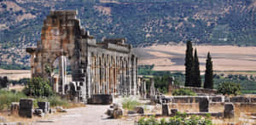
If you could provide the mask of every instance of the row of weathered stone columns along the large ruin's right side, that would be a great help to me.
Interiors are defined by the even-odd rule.
[[[131,89],[136,87],[131,79],[137,74],[134,74],[136,63],[130,57],[91,54],[89,61],[90,94],[131,95]]]

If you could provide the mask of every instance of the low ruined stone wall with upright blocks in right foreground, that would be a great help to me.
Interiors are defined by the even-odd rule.
[[[225,97],[217,96],[159,96],[159,102],[162,104],[162,116],[175,116],[177,111],[186,112],[187,115],[198,115],[233,118],[240,115],[240,111],[255,112],[255,97],[235,96]],[[235,111],[235,107],[239,109]]]

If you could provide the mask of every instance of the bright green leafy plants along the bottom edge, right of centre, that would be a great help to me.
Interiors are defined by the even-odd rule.
[[[210,116],[187,116],[186,113],[177,112],[177,116],[161,118],[158,120],[154,116],[142,117],[137,122],[138,125],[212,125]]]

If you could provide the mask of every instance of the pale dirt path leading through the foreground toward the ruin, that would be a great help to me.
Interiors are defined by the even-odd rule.
[[[109,105],[86,105],[83,108],[68,109],[67,114],[49,117],[36,125],[133,125],[133,118],[108,119],[104,112]],[[48,122],[49,121],[49,122]]]

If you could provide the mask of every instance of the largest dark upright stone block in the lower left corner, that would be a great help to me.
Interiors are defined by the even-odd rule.
[[[32,118],[33,99],[20,99],[19,115]]]

